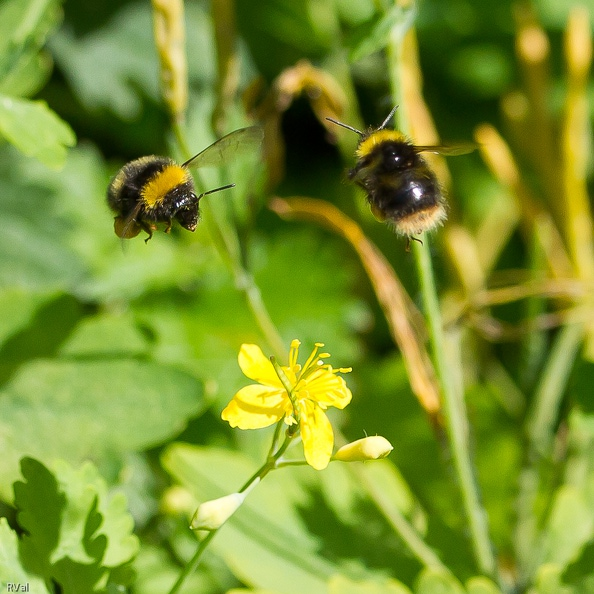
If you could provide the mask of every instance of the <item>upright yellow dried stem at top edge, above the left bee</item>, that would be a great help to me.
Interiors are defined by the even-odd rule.
[[[184,118],[188,105],[183,0],[152,0],[153,27],[161,63],[161,92],[172,117]]]

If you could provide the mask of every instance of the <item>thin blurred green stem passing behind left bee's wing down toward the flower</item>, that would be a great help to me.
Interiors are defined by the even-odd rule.
[[[192,155],[188,150],[188,143],[182,125],[174,121],[172,122],[172,126],[184,158],[189,159]],[[208,222],[213,242],[219,250],[221,257],[229,266],[233,274],[235,286],[245,295],[248,307],[272,352],[278,357],[284,358],[286,352],[282,338],[268,313],[260,288],[256,284],[252,274],[243,264],[241,244],[237,230],[232,225],[228,225],[222,220],[222,217],[218,217],[214,212],[213,216],[209,217]]]

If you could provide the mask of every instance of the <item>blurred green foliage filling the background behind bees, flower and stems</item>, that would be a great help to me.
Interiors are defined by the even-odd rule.
[[[186,129],[194,152],[220,133],[213,129],[220,99],[216,3],[185,6]],[[224,114],[224,132],[249,120],[241,92],[259,78],[265,94],[303,59],[339,82],[347,114],[360,120],[345,115],[345,121],[379,124],[393,103],[383,48],[395,29],[403,34],[414,23],[425,99],[440,135],[470,139],[483,122],[503,128],[522,180],[540,207],[554,211],[529,135],[506,128],[501,111],[502,98],[525,85],[515,41],[517,15],[527,5],[423,0],[414,11],[386,0],[231,5],[238,92]],[[549,36],[551,84],[542,99],[559,121],[570,3],[534,0],[529,8]],[[587,92],[591,98],[591,85]],[[150,3],[0,0],[3,588],[169,591],[196,548],[188,522],[197,504],[238,489],[266,456],[270,432],[231,431],[220,420],[247,382],[237,365],[240,345],[258,343],[272,354],[209,233],[209,223],[225,220],[238,229],[245,267],[286,346],[293,338],[308,346],[322,341],[334,365],[352,365],[353,403],[332,417],[335,427],[349,441],[382,434],[395,450],[389,461],[358,471],[331,464],[320,473],[272,473],[217,535],[182,591],[594,592],[594,367],[578,341],[575,357],[555,374],[550,354],[567,318],[530,325],[572,306],[571,296],[555,301],[543,290],[493,307],[489,323],[521,329],[496,340],[492,326],[470,315],[477,313],[470,297],[459,301],[468,316],[448,318],[498,559],[492,581],[477,575],[443,434],[413,395],[361,263],[338,237],[282,221],[266,208],[273,194],[339,206],[419,301],[404,242],[342,183],[352,158],[345,162],[311,99],[292,97],[279,112],[284,174],[275,187],[262,190],[266,176],[249,158],[205,172],[205,187],[237,187],[201,201],[204,223],[194,234],[174,227],[148,245],[139,238],[122,245],[105,203],[110,176],[142,155],[183,157],[160,99]],[[477,154],[449,165],[452,218],[472,233],[494,203],[507,204],[509,189]],[[276,179],[272,173],[279,172],[268,172]],[[463,290],[440,237],[434,267],[449,311]],[[492,284],[518,271],[524,279],[549,278],[535,243],[521,224],[511,229],[490,270]],[[591,293],[584,283],[579,287]],[[591,319],[592,309],[581,315],[576,324]],[[543,385],[543,377],[551,383]],[[553,384],[560,404],[550,447],[537,455],[529,447],[531,405]],[[451,574],[423,567],[374,490]],[[528,510],[526,492],[534,496]]]

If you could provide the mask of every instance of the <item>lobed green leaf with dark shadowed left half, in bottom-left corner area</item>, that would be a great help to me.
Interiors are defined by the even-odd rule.
[[[14,490],[17,519],[26,531],[23,562],[65,594],[95,591],[100,580],[119,582],[138,550],[125,501],[108,496],[90,463],[75,470],[57,461],[55,467],[52,474],[32,458],[21,462],[25,480]]]

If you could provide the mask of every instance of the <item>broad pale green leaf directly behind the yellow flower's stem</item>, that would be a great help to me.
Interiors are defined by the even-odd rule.
[[[191,490],[197,502],[233,493],[254,472],[241,454],[174,444],[162,455],[165,469]],[[285,594],[327,593],[339,568],[319,554],[317,539],[294,507],[295,493],[282,474],[259,484],[213,540],[211,548],[238,579]],[[287,579],[290,576],[290,579]]]

